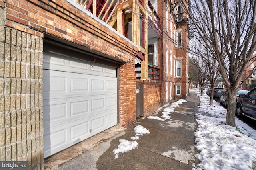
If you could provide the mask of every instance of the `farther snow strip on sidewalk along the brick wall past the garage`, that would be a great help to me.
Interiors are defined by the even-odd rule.
[[[171,103],[170,106],[167,106],[164,108],[164,111],[162,112],[161,118],[158,116],[148,116],[148,119],[156,119],[160,121],[165,121],[165,120],[171,120],[170,114],[174,112],[175,108],[174,107],[180,107],[179,104],[182,104],[184,102],[187,102],[184,99],[179,99],[177,102]]]

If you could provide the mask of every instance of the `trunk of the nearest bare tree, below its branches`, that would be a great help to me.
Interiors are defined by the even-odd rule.
[[[236,126],[236,95],[237,90],[230,90],[228,92],[228,107],[227,107],[227,117],[226,125]]]

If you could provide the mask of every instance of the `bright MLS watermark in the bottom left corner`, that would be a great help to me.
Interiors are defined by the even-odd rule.
[[[0,170],[28,170],[28,161],[0,161]]]

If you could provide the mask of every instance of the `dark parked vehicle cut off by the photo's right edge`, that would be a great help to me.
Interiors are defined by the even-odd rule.
[[[239,94],[236,101],[236,115],[243,115],[256,120],[256,88],[250,90],[247,94]]]

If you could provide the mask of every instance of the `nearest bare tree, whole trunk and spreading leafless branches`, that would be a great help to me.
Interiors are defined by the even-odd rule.
[[[255,58],[255,0],[182,0],[198,37],[218,61],[228,90],[226,125],[235,126],[236,94],[248,63]],[[186,8],[189,3],[189,8]]]

